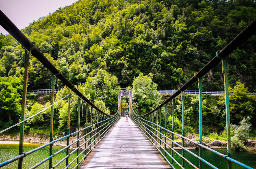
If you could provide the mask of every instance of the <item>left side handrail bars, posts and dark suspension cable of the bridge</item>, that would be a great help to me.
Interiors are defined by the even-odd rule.
[[[71,136],[71,135],[74,135],[74,134],[76,134],[77,133],[77,137],[78,137],[78,139],[77,140],[79,140],[79,132],[81,131],[81,130],[79,130],[79,128],[80,128],[80,100],[82,99],[82,100],[84,100],[87,104],[86,104],[86,114],[87,114],[87,112],[88,112],[88,106],[91,106],[91,120],[92,120],[92,110],[93,110],[93,108],[94,108],[94,110],[95,110],[95,124],[96,125],[98,125],[98,120],[99,120],[99,116],[101,116],[100,118],[107,118],[106,119],[106,123],[105,123],[105,120],[104,121],[101,121],[101,122],[99,122],[100,124],[102,124],[102,122],[104,122],[104,124],[103,125],[109,125],[109,124],[111,124],[111,127],[113,126],[113,124],[115,124],[116,123],[116,121],[120,118],[120,115],[119,114],[117,114],[117,113],[120,113],[120,106],[118,106],[118,109],[117,109],[117,112],[115,113],[115,114],[113,114],[113,115],[109,115],[109,114],[106,114],[105,112],[103,112],[102,110],[100,110],[100,108],[98,108],[97,106],[95,106],[89,99],[87,99],[76,87],[75,87],[75,85],[73,85],[71,82],[69,82],[69,80],[67,80],[67,78],[65,78],[65,76],[63,76],[63,74],[61,74],[61,72],[59,71],[59,70],[57,70],[55,67],[54,67],[54,65],[52,65],[52,63],[39,51],[39,49],[37,49],[37,47],[36,47],[36,45],[35,45],[35,43],[33,44],[32,42],[30,42],[30,40],[28,40],[28,38],[26,38],[26,36],[9,20],[9,18],[6,16],[6,15],[4,15],[4,13],[2,13],[2,11],[0,10],[0,25],[2,25],[2,27],[4,27],[4,29],[5,30],[7,30],[8,32],[9,32],[9,34],[11,34],[21,45],[22,45],[22,48],[23,49],[26,49],[27,51],[29,51],[29,54],[27,54],[27,51],[25,50],[25,73],[24,73],[24,85],[23,85],[23,98],[22,98],[22,124],[21,124],[21,126],[20,126],[20,149],[19,149],[19,156],[16,156],[15,158],[12,158],[12,159],[10,159],[9,161],[5,161],[5,162],[3,162],[3,163],[1,163],[0,164],[0,167],[2,167],[2,166],[4,166],[4,165],[7,165],[7,164],[9,164],[9,163],[12,163],[13,161],[16,161],[16,160],[19,160],[19,163],[18,163],[18,168],[19,169],[21,169],[22,168],[22,166],[23,166],[23,158],[26,156],[26,155],[28,155],[28,154],[31,154],[31,153],[33,153],[33,152],[36,152],[37,150],[38,150],[38,148],[35,148],[34,150],[31,150],[30,152],[23,152],[23,142],[24,142],[24,125],[25,125],[25,123],[24,123],[24,116],[25,116],[25,111],[26,111],[26,94],[27,94],[27,92],[26,92],[26,90],[27,90],[27,78],[28,78],[28,65],[29,65],[29,59],[30,59],[30,55],[32,54],[35,58],[37,58],[44,66],[46,66],[46,68],[48,69],[48,70],[50,70],[50,72],[52,72],[52,74],[54,75],[54,76],[52,76],[52,88],[54,89],[54,84],[55,84],[55,80],[56,80],[56,77],[57,78],[59,78],[62,82],[63,82],[63,84],[65,85],[65,86],[67,86],[69,89],[71,89],[71,91],[73,91],[78,97],[79,97],[79,99],[78,99],[78,131],[76,131],[76,132],[74,132],[74,133],[72,133],[72,134],[69,134],[69,122],[70,122],[70,105],[71,105],[71,91],[69,92],[69,112],[68,112],[68,119],[67,119],[67,121],[68,121],[68,123],[67,123],[67,135],[65,136],[65,137],[62,137],[62,139],[64,139],[64,138],[67,138],[67,147],[66,147],[66,150],[67,150],[67,154],[70,154],[69,153],[69,147],[70,147],[70,145],[69,145],[69,137]],[[41,89],[41,90],[38,90],[37,92],[38,93],[49,93],[50,91],[52,91],[51,89]],[[55,91],[55,90],[54,90]],[[35,93],[35,91],[33,91],[33,93]],[[52,92],[52,97],[51,97],[51,101],[52,102],[54,102],[54,93],[55,92]],[[82,102],[82,101],[81,101]],[[51,105],[52,106],[52,105]],[[53,129],[53,118],[54,118],[54,116],[53,116],[53,106],[51,107],[52,109],[51,109],[51,120],[50,120],[50,128],[51,128],[51,130]],[[97,119],[97,123],[96,123],[96,112],[98,112],[98,119]],[[40,112],[39,112],[40,113]],[[31,118],[31,117],[30,117]],[[115,119],[115,121],[113,121],[113,123],[111,122],[111,120],[112,120],[112,118],[113,119]],[[92,123],[91,123],[92,124]],[[95,125],[94,124],[94,125]],[[95,130],[92,130],[92,125],[91,125],[91,133],[93,133],[93,131],[95,131],[95,134],[93,135],[94,136],[94,146],[93,146],[93,148],[95,147],[95,143],[96,143],[96,140],[95,140],[95,136],[96,135],[98,135],[98,142],[102,139],[102,136],[104,136],[104,135],[102,135],[103,133],[102,133],[102,126],[103,125],[100,125],[100,127],[101,127],[101,130],[100,131],[98,131],[97,132],[97,129],[99,129],[99,127],[95,127]],[[86,124],[85,124],[85,128],[86,128],[86,130],[85,130],[85,132],[87,133],[87,117],[86,117]],[[103,128],[103,129],[106,129],[106,127],[105,128]],[[109,127],[107,128],[107,129],[109,129]],[[105,131],[105,133],[104,134],[106,134],[106,132],[107,132],[108,130],[106,130]],[[52,138],[52,133],[53,133],[53,131],[50,131],[50,143],[48,143],[48,144],[46,144],[46,145],[50,145],[50,154],[52,154],[52,144],[54,143],[54,142],[57,142],[57,141],[60,141],[60,139],[56,139],[56,140],[54,140],[53,141],[53,138]],[[90,133],[90,138],[91,138],[91,133]],[[99,133],[101,133],[101,134],[99,134]],[[99,138],[101,138],[100,140],[99,140]],[[85,137],[85,139],[86,139],[86,137]],[[77,146],[79,145],[79,142],[78,141],[76,141],[77,142]],[[91,140],[90,140],[90,142],[91,142]],[[92,144],[92,143],[91,143]],[[86,150],[88,149],[88,147],[90,148],[90,151],[89,152],[91,152],[91,144],[90,144],[90,146],[87,146],[87,148],[85,148],[85,152],[86,152]],[[44,146],[41,146],[40,147],[40,149],[41,148],[44,148],[46,145],[44,145]],[[72,153],[74,153],[75,151],[77,152],[77,156],[78,156],[78,147],[77,147],[77,149],[76,150],[74,150],[74,151],[72,151]],[[63,150],[65,150],[65,149],[63,149]],[[87,153],[87,154],[89,154],[89,152]],[[49,166],[50,167],[52,167],[52,157],[54,156],[54,154],[52,154],[52,155],[50,155],[48,158],[46,158],[45,160],[43,160],[43,161],[41,161],[40,163],[38,163],[37,165],[39,166],[39,165],[41,165],[42,163],[44,163],[44,162],[46,162],[47,160],[50,160],[49,161]],[[84,157],[85,158],[85,157]],[[83,158],[83,159],[84,159]],[[65,160],[65,159],[64,159]],[[58,165],[61,163],[61,162],[63,162],[64,160],[61,160],[59,163],[58,163]],[[77,160],[77,165],[79,165],[80,163],[78,163],[78,158],[76,158],[76,160]],[[74,161],[72,161],[72,163],[73,163]],[[68,156],[66,157],[66,166],[70,166],[69,164],[68,164]],[[32,168],[35,168],[35,167],[37,167],[37,166],[33,166]]]

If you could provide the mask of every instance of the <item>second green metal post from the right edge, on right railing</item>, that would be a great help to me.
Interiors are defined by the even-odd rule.
[[[196,73],[195,73],[196,74]],[[202,79],[197,78],[199,89],[199,143],[202,144]],[[202,157],[202,147],[199,147],[199,156]],[[199,168],[202,169],[202,161],[199,161]]]

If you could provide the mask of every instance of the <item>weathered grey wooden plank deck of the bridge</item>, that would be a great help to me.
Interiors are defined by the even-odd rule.
[[[170,169],[143,132],[122,117],[85,158],[80,169]]]

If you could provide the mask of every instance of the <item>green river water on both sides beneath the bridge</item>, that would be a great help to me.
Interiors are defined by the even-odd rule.
[[[29,150],[33,150],[34,148],[37,148],[41,146],[40,144],[25,144],[24,145],[24,152],[27,152]],[[53,153],[61,150],[63,147],[61,146],[53,146]],[[226,154],[226,149],[215,149],[218,152],[221,152],[222,154]],[[7,161],[15,156],[17,156],[19,151],[19,145],[18,144],[0,144],[0,163]],[[69,152],[71,152],[70,150]],[[171,150],[168,150],[169,153],[171,154]],[[177,150],[181,154],[181,150]],[[195,154],[199,154],[199,150],[191,150]],[[175,153],[174,153],[175,154]],[[49,156],[49,146],[46,148],[43,148],[33,154],[30,154],[24,158],[24,169],[28,169],[32,167],[33,165],[39,163],[43,159],[47,158]],[[66,156],[66,151],[61,152],[57,156],[54,156],[53,158],[53,165],[58,163],[61,159],[63,159]],[[72,156],[69,157],[69,163],[76,157],[76,152],[72,154]],[[129,157],[127,157],[129,158]],[[174,155],[174,158],[181,163],[181,159],[178,155]],[[194,156],[190,155],[188,152],[185,152],[185,158],[189,159],[194,165],[198,167],[198,159],[195,158]],[[222,157],[219,157],[218,155],[214,154],[213,152],[209,152],[207,150],[203,150],[203,158],[214,164],[215,167],[218,167],[220,169],[226,169],[227,168],[227,162],[224,160]],[[232,152],[232,158],[234,158],[237,161],[240,161],[241,163],[244,163],[252,168],[256,168],[256,152]],[[79,158],[81,159],[81,158]],[[168,158],[171,160],[171,158]],[[139,160],[139,159],[138,159]],[[65,167],[65,161],[61,163],[58,167],[59,169],[62,169]],[[76,161],[74,162],[76,163]],[[39,169],[48,169],[49,167],[49,162],[47,161],[46,163],[40,165],[38,168]],[[72,165],[70,168],[74,168],[75,164]],[[180,168],[178,165],[174,165],[175,168]],[[185,162],[185,168],[190,169],[192,168],[190,165],[188,165]],[[208,169],[210,168],[208,165],[203,165],[203,169]],[[240,169],[242,167],[239,167],[238,165],[233,164],[232,165],[233,169]],[[9,165],[6,165],[2,167],[1,169],[17,169],[17,161],[14,163],[11,163]]]

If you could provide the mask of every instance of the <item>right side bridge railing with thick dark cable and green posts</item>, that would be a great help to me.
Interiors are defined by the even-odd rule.
[[[213,152],[219,156],[221,156],[223,159],[226,159],[228,162],[228,168],[232,168],[232,163],[239,165],[246,169],[252,169],[252,167],[249,167],[243,163],[240,163],[239,161],[234,160],[231,158],[231,133],[230,133],[230,110],[229,110],[229,92],[228,92],[228,55],[234,51],[239,44],[247,40],[252,34],[256,32],[256,19],[252,21],[239,35],[237,35],[225,48],[223,48],[221,51],[216,52],[216,56],[213,57],[212,60],[210,60],[201,70],[198,72],[195,72],[194,76],[187,81],[182,87],[179,87],[178,90],[174,91],[172,95],[168,99],[166,99],[162,104],[158,105],[156,108],[148,112],[147,114],[138,115],[137,112],[135,112],[132,108],[132,104],[130,101],[130,114],[132,120],[139,126],[141,131],[145,133],[145,135],[148,137],[148,139],[152,142],[152,144],[156,147],[156,149],[163,155],[163,158],[169,163],[169,165],[173,168],[174,163],[176,163],[180,168],[184,169],[185,162],[191,165],[193,168],[202,168],[202,163],[205,163],[206,165],[217,169],[213,164],[209,163],[208,161],[204,160],[202,158],[202,148],[209,150],[210,152]],[[211,69],[213,69],[219,62],[222,62],[222,73],[223,73],[223,80],[224,80],[224,94],[225,94],[225,104],[226,104],[226,131],[227,131],[227,154],[221,154],[211,148],[208,148],[202,144],[202,77]],[[195,142],[187,137],[185,137],[185,119],[184,119],[184,97],[185,93],[187,93],[187,89],[194,83],[198,83],[198,91],[190,91],[190,94],[199,94],[199,142]],[[171,91],[168,91],[171,92]],[[216,91],[217,92],[217,91]],[[172,92],[171,92],[172,93]],[[212,94],[214,92],[211,92]],[[175,99],[178,95],[181,94],[181,100],[182,100],[182,135],[177,134],[174,132],[174,107],[175,107]],[[208,94],[207,92],[205,94]],[[252,94],[255,94],[254,92]],[[167,104],[172,101],[172,129],[171,131],[167,129]],[[161,109],[164,108],[164,118],[162,118]],[[159,120],[158,120],[159,116]],[[162,122],[161,120],[164,119],[164,126],[161,126]],[[167,133],[171,135],[171,137],[167,137]],[[179,145],[177,142],[174,141],[174,135],[180,137],[182,139],[182,145]],[[162,139],[162,137],[164,139]],[[171,142],[171,146],[167,144],[167,140]],[[199,155],[194,154],[187,148],[185,148],[185,140],[199,146]],[[182,153],[178,153],[174,149],[175,146],[178,146],[182,149]],[[166,148],[171,149],[171,154],[167,151]],[[185,153],[186,151],[186,153]],[[186,155],[187,152],[195,158],[199,160],[199,167],[197,167],[195,164],[191,163],[187,158]],[[180,156],[182,163],[178,163],[178,161],[174,158],[174,153],[176,153],[178,156]],[[167,156],[171,158],[171,161],[168,160]]]

